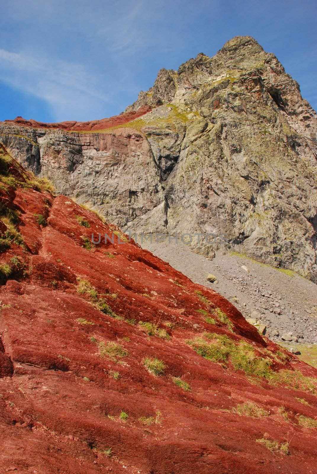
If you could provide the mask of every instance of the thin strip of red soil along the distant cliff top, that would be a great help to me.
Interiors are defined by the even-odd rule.
[[[33,118],[26,120],[23,117],[16,117],[14,120],[5,120],[4,122],[9,125],[21,125],[32,128],[60,128],[62,130],[69,130],[73,132],[92,132],[94,130],[105,130],[106,128],[116,127],[118,125],[131,122],[131,120],[135,120],[136,118],[147,114],[147,112],[150,112],[151,110],[152,108],[149,105],[144,105],[136,111],[132,110],[131,112],[114,115],[110,118],[101,118],[100,120],[91,120],[89,122],[76,122],[75,120],[69,120],[59,123],[45,123],[33,120]]]

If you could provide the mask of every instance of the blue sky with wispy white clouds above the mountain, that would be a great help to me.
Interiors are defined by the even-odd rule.
[[[157,72],[236,35],[273,52],[317,108],[316,0],[10,0],[0,18],[0,120],[122,112]]]

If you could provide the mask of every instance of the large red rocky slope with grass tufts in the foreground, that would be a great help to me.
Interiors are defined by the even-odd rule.
[[[299,423],[317,419],[316,369],[67,197],[2,184],[1,202],[24,240],[0,254],[1,473],[316,472],[316,428]],[[113,231],[113,243],[90,245],[91,233]],[[224,335],[249,345],[245,370],[188,343]],[[150,374],[145,357],[162,360],[163,373]],[[252,375],[263,359],[289,383]],[[245,403],[265,416],[238,414]],[[257,439],[289,443],[290,454]]]

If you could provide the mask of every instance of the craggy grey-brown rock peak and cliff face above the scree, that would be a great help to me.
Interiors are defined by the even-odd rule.
[[[146,107],[98,133],[4,122],[0,140],[124,229],[226,234],[227,244],[196,236],[191,245],[316,282],[317,117],[278,59],[237,36],[214,57],[161,70],[126,113]]]

